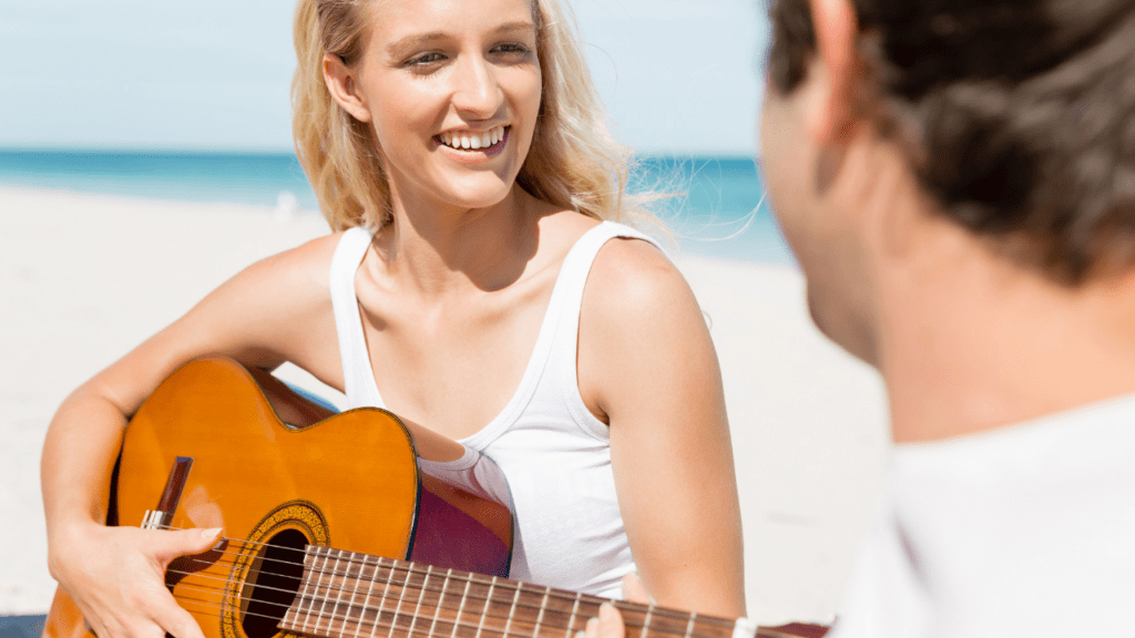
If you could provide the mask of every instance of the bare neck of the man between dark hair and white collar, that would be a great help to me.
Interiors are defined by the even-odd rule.
[[[1068,288],[976,242],[888,277],[894,440],[995,429],[1135,392],[1135,272]]]

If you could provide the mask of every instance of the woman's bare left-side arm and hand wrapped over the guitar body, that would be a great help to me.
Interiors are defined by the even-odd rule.
[[[334,381],[338,352],[326,292],[331,250],[325,237],[253,265],[79,386],[52,419],[41,464],[49,566],[101,638],[200,637],[162,576],[171,559],[208,548],[219,534],[103,524],[128,417],[178,366],[208,354],[267,369],[293,360]]]

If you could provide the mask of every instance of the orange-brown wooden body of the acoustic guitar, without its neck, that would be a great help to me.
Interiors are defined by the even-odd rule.
[[[176,460],[193,460],[163,523],[228,540],[175,561],[167,586],[208,638],[279,632],[306,545],[507,576],[508,509],[423,475],[396,417],[329,415],[254,372],[219,358],[178,369],[131,420],[112,484],[108,522],[142,524]],[[62,588],[44,636],[93,637]]]

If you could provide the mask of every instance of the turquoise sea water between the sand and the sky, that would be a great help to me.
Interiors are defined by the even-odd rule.
[[[301,209],[317,209],[289,153],[0,151],[0,186],[269,208],[291,193]],[[684,253],[791,263],[750,158],[644,157],[631,190],[674,194],[657,212]]]

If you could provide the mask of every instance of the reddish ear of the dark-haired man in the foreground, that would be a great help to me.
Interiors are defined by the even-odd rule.
[[[808,0],[818,60],[809,73],[819,74],[817,93],[809,101],[807,126],[819,143],[842,142],[855,112],[855,42],[858,33],[851,0]]]

